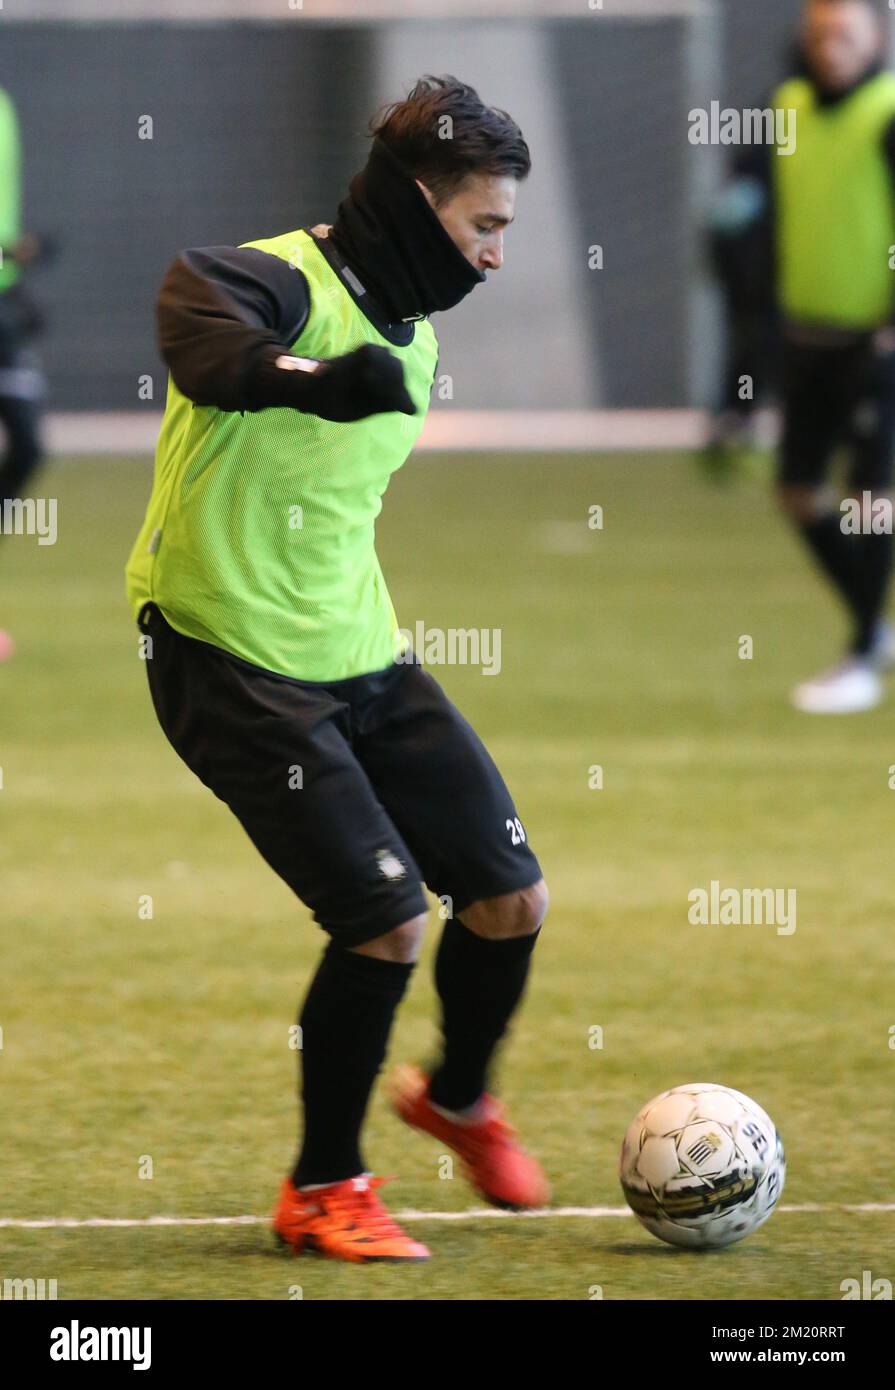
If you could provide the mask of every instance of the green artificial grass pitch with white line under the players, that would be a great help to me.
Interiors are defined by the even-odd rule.
[[[322,937],[156,724],[122,596],[149,477],[58,460],[38,485],[57,545],[0,541],[18,641],[0,667],[0,1220],[263,1215],[293,1156],[289,1026]],[[290,1259],[263,1225],[0,1226],[0,1277],[57,1279],[60,1298],[416,1300],[838,1300],[864,1269],[895,1280],[895,1212],[845,1209],[895,1202],[895,702],[788,708],[844,624],[766,488],[713,491],[687,457],[420,456],[379,553],[402,626],[502,632],[499,676],[434,674],[552,891],[500,1090],[556,1204],[621,1207],[639,1105],[713,1080],[777,1122],[782,1205],[821,1209],[714,1255],[618,1215],[418,1220],[434,1258],[413,1269]],[[691,926],[712,880],[796,890],[796,931]],[[435,938],[434,920],[391,1061],[434,1044]],[[481,1207],[381,1095],[367,1158],[399,1176],[395,1211]]]

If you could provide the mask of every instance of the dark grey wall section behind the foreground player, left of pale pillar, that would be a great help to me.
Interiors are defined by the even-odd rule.
[[[25,221],[61,242],[31,282],[51,407],[139,410],[143,373],[147,409],[164,402],[153,304],[178,247],[332,218],[366,158],[374,42],[363,25],[4,26]]]

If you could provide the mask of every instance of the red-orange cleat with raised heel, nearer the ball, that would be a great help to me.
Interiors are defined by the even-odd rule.
[[[550,1187],[541,1165],[521,1147],[493,1095],[482,1097],[474,1120],[454,1119],[432,1105],[429,1077],[420,1068],[400,1066],[392,1073],[391,1097],[407,1125],[432,1134],[463,1159],[470,1182],[492,1207],[546,1207]]]

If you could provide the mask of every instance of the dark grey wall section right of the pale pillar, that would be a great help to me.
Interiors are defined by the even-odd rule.
[[[682,19],[561,24],[556,92],[577,195],[592,349],[606,403],[684,404],[691,256]]]

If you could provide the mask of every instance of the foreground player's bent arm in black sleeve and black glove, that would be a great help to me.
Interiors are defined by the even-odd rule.
[[[290,406],[339,421],[416,414],[402,364],[385,348],[293,357],[310,313],[307,279],[282,257],[250,246],[185,250],[158,295],[158,346],[178,389],[200,406]]]

